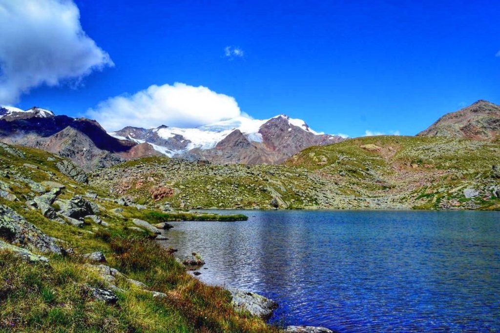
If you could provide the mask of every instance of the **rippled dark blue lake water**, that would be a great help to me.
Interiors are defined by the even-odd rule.
[[[229,213],[229,212],[227,212]],[[199,278],[279,303],[271,322],[340,332],[500,332],[500,212],[245,211],[178,222]]]

